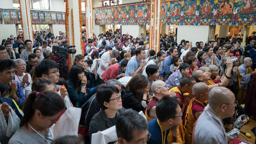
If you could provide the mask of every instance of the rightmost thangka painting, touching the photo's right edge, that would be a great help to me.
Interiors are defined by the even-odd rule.
[[[255,18],[256,0],[238,0],[237,18]]]

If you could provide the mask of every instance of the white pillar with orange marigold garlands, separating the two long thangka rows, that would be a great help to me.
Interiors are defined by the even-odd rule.
[[[161,0],[151,0],[150,12],[150,44],[149,49],[160,50],[160,32],[161,32]]]

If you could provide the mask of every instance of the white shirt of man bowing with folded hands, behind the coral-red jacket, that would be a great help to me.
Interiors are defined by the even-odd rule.
[[[97,71],[97,73],[99,74],[100,78],[102,79],[101,75],[103,74],[103,72],[108,69],[111,65],[109,65],[108,63],[111,61],[111,60],[116,60],[116,58],[112,58],[110,56],[110,51],[108,52],[104,52],[100,58],[100,66],[99,66],[99,69]]]

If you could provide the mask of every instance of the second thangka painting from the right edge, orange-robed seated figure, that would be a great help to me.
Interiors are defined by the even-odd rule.
[[[219,0],[217,3],[218,19],[232,19],[234,1],[232,0]]]

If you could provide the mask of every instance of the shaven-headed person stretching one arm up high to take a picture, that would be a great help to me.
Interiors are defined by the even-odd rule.
[[[202,70],[197,70],[192,74],[192,77],[196,79],[196,82],[203,82],[208,85],[209,89],[211,90],[214,87],[222,86],[226,87],[229,82],[231,70],[232,70],[232,61],[230,59],[226,60],[227,72],[221,77],[221,83],[218,83],[219,80],[210,80],[209,74],[207,72],[203,72]],[[216,82],[216,83],[215,83]]]

